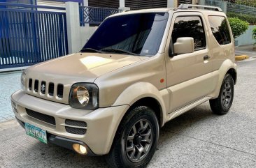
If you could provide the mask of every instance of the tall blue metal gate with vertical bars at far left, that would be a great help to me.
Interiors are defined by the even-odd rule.
[[[0,8],[0,69],[31,66],[68,54],[65,8],[0,6],[6,6]]]

